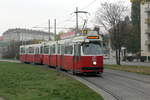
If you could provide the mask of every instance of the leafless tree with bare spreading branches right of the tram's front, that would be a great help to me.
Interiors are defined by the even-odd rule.
[[[111,32],[111,45],[116,51],[116,63],[120,65],[120,52],[121,52],[121,24],[125,17],[127,7],[124,2],[101,4],[101,8],[96,12],[96,20],[99,24],[103,25],[105,30]]]

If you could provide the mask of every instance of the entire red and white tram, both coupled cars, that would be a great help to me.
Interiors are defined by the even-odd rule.
[[[103,45],[99,36],[78,36],[20,46],[20,61],[54,66],[76,73],[103,72]]]

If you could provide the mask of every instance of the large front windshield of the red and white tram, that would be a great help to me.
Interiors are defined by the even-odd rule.
[[[83,54],[99,55],[102,54],[102,45],[100,42],[89,42],[82,44]]]

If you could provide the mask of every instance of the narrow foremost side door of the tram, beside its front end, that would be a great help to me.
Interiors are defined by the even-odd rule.
[[[73,70],[78,70],[80,55],[81,55],[80,45],[75,44],[74,45],[74,66],[73,66]]]

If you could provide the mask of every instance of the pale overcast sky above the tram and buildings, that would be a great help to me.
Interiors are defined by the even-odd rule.
[[[0,35],[9,28],[45,27],[48,19],[53,25],[55,18],[59,27],[73,27],[75,25],[73,12],[77,6],[79,10],[90,13],[90,15],[81,14],[80,20],[87,17],[90,19],[89,25],[92,25],[94,13],[104,1],[118,0],[0,0]],[[130,0],[125,1],[130,6]]]

